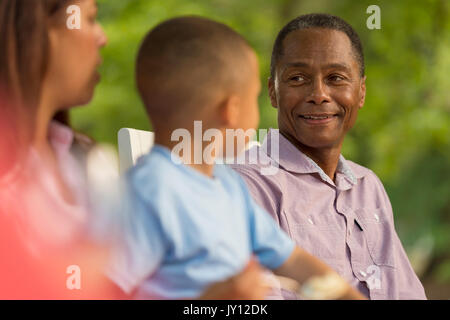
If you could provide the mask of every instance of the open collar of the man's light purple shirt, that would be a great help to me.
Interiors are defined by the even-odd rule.
[[[278,157],[273,153],[273,150],[276,150],[276,148],[272,147],[273,143],[278,143]],[[277,162],[285,170],[294,173],[318,173],[322,180],[334,185],[334,182],[325,174],[322,168],[280,134],[278,129],[269,130],[261,147],[273,161]],[[342,174],[351,185],[355,185],[357,179],[365,175],[362,171],[352,170],[349,162],[342,155],[339,157],[336,173]]]

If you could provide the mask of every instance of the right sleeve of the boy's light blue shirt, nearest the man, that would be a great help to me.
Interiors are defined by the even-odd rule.
[[[263,266],[277,269],[290,257],[295,244],[264,209],[254,203],[250,196],[248,198],[253,253]]]

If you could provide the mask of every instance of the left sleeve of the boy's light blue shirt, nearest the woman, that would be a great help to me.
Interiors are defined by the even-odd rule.
[[[106,274],[129,295],[159,267],[167,241],[155,210],[131,184],[127,189]]]

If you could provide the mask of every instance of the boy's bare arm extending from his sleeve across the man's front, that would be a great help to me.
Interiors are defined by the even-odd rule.
[[[337,296],[335,298],[337,299],[366,299],[324,262],[299,247],[295,247],[289,258],[273,271],[276,275],[296,280],[300,284],[303,293],[307,290],[310,292],[312,289],[316,291],[321,290],[323,292],[314,293],[327,297],[327,294],[333,295],[331,292],[336,291]],[[330,279],[332,279],[332,285],[327,287]]]

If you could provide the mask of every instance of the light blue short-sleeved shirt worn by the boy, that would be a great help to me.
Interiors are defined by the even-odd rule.
[[[128,172],[127,185],[131,210],[108,275],[138,298],[195,298],[252,255],[276,269],[294,249],[225,165],[209,178],[155,145]]]

